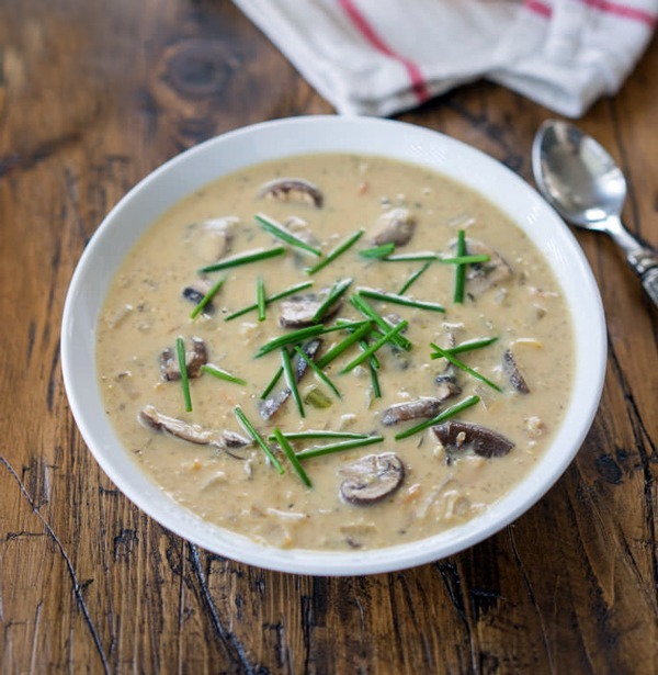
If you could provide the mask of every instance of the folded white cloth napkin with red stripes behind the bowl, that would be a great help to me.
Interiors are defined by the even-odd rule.
[[[234,0],[339,113],[485,78],[567,116],[622,86],[658,0]]]

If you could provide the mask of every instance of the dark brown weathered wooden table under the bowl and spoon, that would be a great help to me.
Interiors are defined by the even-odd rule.
[[[61,382],[67,284],[103,216],[163,160],[243,124],[331,113],[228,1],[0,0],[0,672],[658,672],[657,313],[577,233],[608,314],[601,408],[534,508],[447,560],[368,577],[238,564],[135,508]],[[400,119],[530,180],[549,111],[475,83]],[[658,42],[580,125],[658,246]]]

